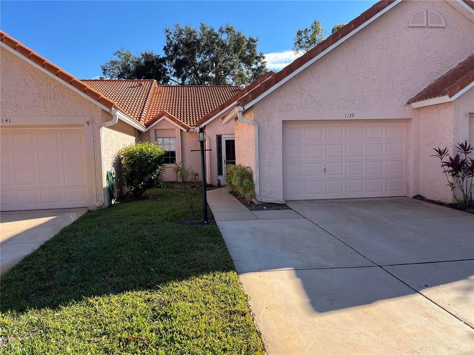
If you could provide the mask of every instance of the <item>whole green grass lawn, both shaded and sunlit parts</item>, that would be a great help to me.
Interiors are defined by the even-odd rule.
[[[86,213],[1,277],[0,354],[263,354],[219,229],[180,223],[180,190],[148,194]]]

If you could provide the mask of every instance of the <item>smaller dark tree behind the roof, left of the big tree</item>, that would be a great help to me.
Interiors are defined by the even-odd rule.
[[[101,65],[102,74],[111,79],[155,79],[158,84],[169,80],[166,59],[153,51],[141,52],[138,55],[130,50],[120,48],[111,59]]]

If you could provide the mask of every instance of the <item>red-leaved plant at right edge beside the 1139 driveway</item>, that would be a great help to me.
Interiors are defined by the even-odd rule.
[[[456,155],[450,156],[448,148],[433,148],[436,154],[433,155],[441,161],[444,175],[448,180],[453,197],[458,205],[464,208],[474,206],[473,200],[473,180],[474,180],[474,160],[469,157],[474,151],[474,147],[467,141],[455,146]],[[459,193],[458,193],[459,191]]]

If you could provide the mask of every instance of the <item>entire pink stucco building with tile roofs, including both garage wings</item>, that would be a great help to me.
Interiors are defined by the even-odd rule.
[[[151,141],[208,183],[249,166],[262,202],[450,201],[433,148],[474,144],[474,1],[379,1],[251,85],[79,80],[1,33],[1,208],[101,207],[122,146]]]

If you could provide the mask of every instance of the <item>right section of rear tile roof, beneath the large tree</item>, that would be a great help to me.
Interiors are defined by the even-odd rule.
[[[166,111],[179,121],[194,127],[197,120],[229,100],[238,91],[237,86],[158,85],[150,100],[145,125],[149,126],[149,122],[153,122],[161,111]]]

